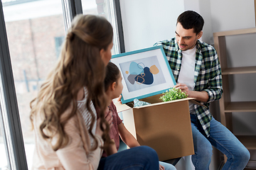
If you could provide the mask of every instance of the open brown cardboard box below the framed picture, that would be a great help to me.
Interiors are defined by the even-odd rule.
[[[160,161],[194,154],[188,101],[197,102],[193,98],[160,102],[159,96],[142,99],[153,103],[147,106],[131,108],[116,103],[125,127],[140,145],[155,149]]]

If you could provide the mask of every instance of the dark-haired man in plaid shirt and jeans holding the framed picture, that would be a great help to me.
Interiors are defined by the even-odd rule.
[[[223,169],[244,169],[250,153],[224,125],[213,118],[210,102],[223,94],[218,55],[211,45],[199,40],[203,35],[203,18],[195,11],[178,16],[176,38],[156,42],[162,45],[176,79],[177,89],[196,98],[206,108],[189,103],[196,169],[209,169],[212,146],[228,157]]]

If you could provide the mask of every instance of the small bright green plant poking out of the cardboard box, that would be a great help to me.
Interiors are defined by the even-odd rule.
[[[163,93],[164,96],[161,96],[161,101],[174,101],[181,98],[187,98],[188,95],[182,92],[180,89],[171,88],[169,91]]]

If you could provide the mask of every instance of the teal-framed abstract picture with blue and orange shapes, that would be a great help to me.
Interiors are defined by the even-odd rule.
[[[163,47],[112,55],[122,74],[122,103],[161,94],[176,84]]]

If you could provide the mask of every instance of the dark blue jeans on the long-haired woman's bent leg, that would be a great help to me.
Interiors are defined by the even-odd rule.
[[[159,158],[151,147],[132,147],[100,159],[98,170],[102,169],[158,170]]]

